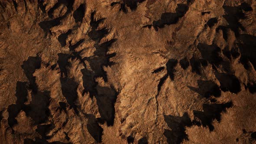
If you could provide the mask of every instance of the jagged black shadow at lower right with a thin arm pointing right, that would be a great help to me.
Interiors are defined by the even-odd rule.
[[[193,121],[193,124],[198,126],[202,125],[203,127],[207,127],[210,131],[214,130],[214,126],[212,124],[213,120],[217,120],[220,122],[221,113],[226,111],[226,108],[232,107],[232,102],[227,102],[223,104],[203,104],[203,111],[193,111],[195,118],[198,118],[200,121],[196,119]]]

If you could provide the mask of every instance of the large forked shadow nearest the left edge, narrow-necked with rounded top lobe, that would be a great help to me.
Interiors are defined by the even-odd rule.
[[[12,127],[17,123],[15,117],[17,114],[23,110],[26,112],[26,115],[33,119],[34,124],[41,124],[48,120],[49,117],[49,98],[50,92],[38,91],[36,85],[36,78],[33,76],[33,73],[36,69],[41,67],[41,58],[39,56],[36,57],[28,57],[28,60],[23,62],[21,66],[24,70],[24,73],[29,81],[29,88],[32,89],[30,104],[25,105],[24,103],[27,101],[26,96],[28,95],[27,91],[27,83],[26,82],[17,82],[16,85],[16,104],[10,105],[7,109],[9,112],[8,124]]]

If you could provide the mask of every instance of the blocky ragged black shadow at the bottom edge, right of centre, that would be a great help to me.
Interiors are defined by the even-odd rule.
[[[181,144],[182,141],[188,140],[186,134],[186,127],[190,127],[192,122],[187,113],[184,113],[182,117],[164,115],[164,121],[167,123],[170,130],[164,130],[164,136],[167,138],[168,144]]]

